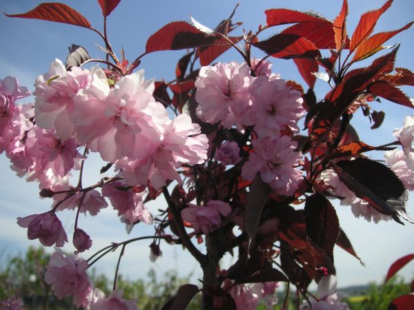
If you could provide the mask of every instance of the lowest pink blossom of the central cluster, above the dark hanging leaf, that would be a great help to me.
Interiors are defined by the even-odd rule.
[[[296,143],[288,136],[253,140],[254,152],[242,169],[242,177],[253,180],[259,172],[262,180],[275,189],[277,194],[292,195],[302,180],[302,172],[296,169],[301,154],[295,152]]]

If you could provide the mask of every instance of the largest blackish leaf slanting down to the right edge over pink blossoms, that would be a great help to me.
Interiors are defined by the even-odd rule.
[[[397,223],[402,224],[400,216],[412,222],[405,211],[407,194],[404,184],[386,165],[367,158],[357,158],[340,161],[333,168],[355,196],[382,214],[392,216]]]

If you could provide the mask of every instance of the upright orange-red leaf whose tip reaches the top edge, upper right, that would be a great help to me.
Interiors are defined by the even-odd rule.
[[[353,52],[355,48],[359,46],[369,35],[373,32],[375,24],[380,16],[388,10],[388,8],[393,3],[393,0],[388,0],[378,10],[373,10],[362,14],[361,18],[359,19],[359,23],[357,28],[351,37],[351,43],[349,43],[349,52]]]

